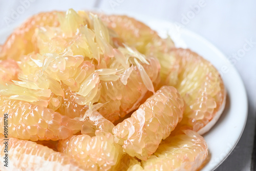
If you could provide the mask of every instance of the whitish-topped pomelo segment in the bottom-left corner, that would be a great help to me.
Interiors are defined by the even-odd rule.
[[[0,155],[4,158],[6,140],[0,138]],[[1,161],[1,170],[75,170],[82,171],[84,167],[69,156],[55,152],[47,146],[32,141],[9,138],[8,167]]]

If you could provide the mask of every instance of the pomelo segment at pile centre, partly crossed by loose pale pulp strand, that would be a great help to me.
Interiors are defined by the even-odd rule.
[[[150,81],[156,85],[159,81],[160,69],[158,60],[152,57],[147,61],[149,65],[142,63],[142,66]],[[133,67],[125,82],[126,84],[120,78],[116,81],[100,81],[99,83],[101,95],[98,102],[106,103],[99,109],[99,113],[112,122],[137,109],[141,104],[141,99],[148,92],[137,66]]]

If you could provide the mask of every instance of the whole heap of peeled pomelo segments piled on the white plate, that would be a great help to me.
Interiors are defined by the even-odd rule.
[[[197,170],[225,105],[208,61],[127,16],[40,13],[0,57],[12,170]]]

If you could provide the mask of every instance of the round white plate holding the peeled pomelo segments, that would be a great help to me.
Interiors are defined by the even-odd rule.
[[[113,13],[113,11],[106,12]],[[189,30],[182,28],[177,29],[174,24],[164,20],[131,12],[115,11],[115,13],[133,16],[158,31],[161,36],[166,36],[166,33],[168,33],[174,39],[176,45],[197,52],[205,59],[212,62],[220,71],[228,93],[227,104],[217,124],[204,135],[211,158],[202,170],[209,171],[216,169],[238,143],[247,119],[248,102],[245,88],[238,72],[228,63],[225,55],[216,47],[203,37]],[[0,31],[0,43],[5,41],[11,31],[12,28]],[[224,73],[222,69],[225,69],[223,71],[228,70],[228,72]]]

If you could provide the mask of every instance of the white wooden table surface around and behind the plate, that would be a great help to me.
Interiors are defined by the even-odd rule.
[[[198,8],[200,7],[200,9]],[[239,53],[246,41],[256,42],[256,1],[253,0],[0,0],[0,30],[22,23],[39,11],[73,8],[132,11],[183,24],[219,48],[227,57]],[[184,19],[196,11],[189,20]],[[256,113],[256,44],[237,59],[248,95],[249,113],[244,133],[231,155],[217,170],[250,170]]]

